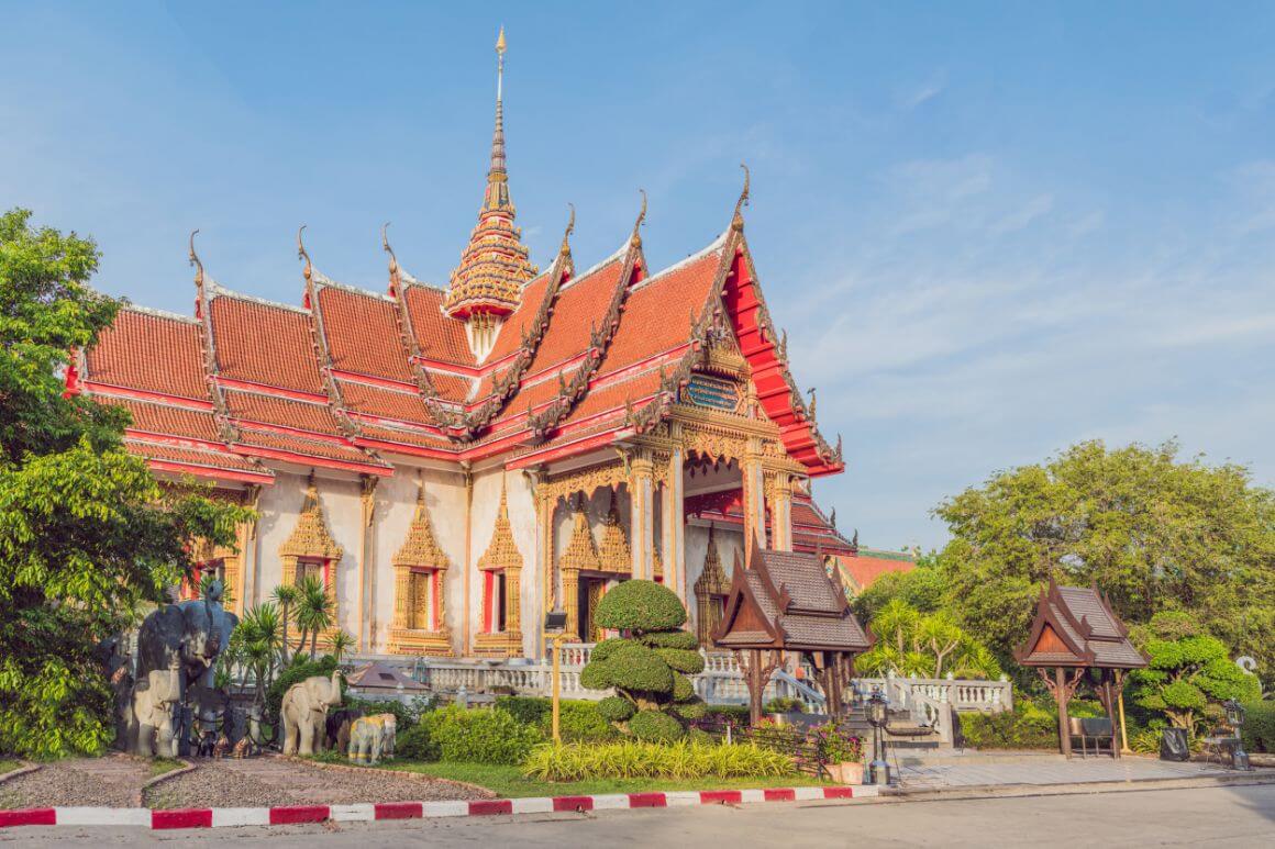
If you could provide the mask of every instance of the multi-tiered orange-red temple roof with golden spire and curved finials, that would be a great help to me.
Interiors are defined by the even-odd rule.
[[[205,274],[193,237],[195,316],[126,306],[68,385],[126,407],[129,449],[167,472],[268,482],[269,461],[384,475],[391,455],[523,468],[659,423],[729,331],[788,454],[811,475],[835,473],[840,445],[820,435],[761,294],[746,199],[747,181],[719,237],[654,273],[645,199],[618,250],[583,272],[572,213],[538,273],[513,226],[497,97],[487,195],[448,289],[408,274],[384,233],[385,292],[337,283],[298,233],[301,306],[263,301]]]

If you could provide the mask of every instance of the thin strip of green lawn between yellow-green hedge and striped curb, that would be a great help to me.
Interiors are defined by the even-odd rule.
[[[705,778],[676,781],[672,779],[593,779],[588,781],[537,781],[524,778],[519,766],[491,764],[425,764],[403,761],[386,764],[388,769],[421,773],[433,778],[467,781],[484,787],[502,798],[528,795],[593,795],[604,793],[643,793],[645,790],[743,790],[768,787],[810,787],[824,784],[808,775],[761,779]]]

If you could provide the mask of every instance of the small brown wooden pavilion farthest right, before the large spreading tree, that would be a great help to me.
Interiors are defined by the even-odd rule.
[[[1125,690],[1126,673],[1145,668],[1148,659],[1130,641],[1128,628],[1112,611],[1105,593],[1096,586],[1058,586],[1051,577],[1048,589],[1040,590],[1030,636],[1014,658],[1024,667],[1035,667],[1053,693],[1063,755],[1071,757],[1067,702],[1088,678],[1111,720],[1112,756],[1119,757],[1114,743],[1116,704]]]

